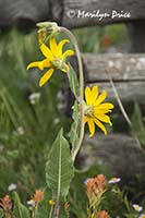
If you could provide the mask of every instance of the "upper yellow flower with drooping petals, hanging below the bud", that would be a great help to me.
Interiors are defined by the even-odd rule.
[[[67,50],[62,52],[63,46],[70,43],[68,39],[61,40],[58,45],[55,38],[50,38],[48,48],[45,44],[40,45],[40,50],[45,56],[41,61],[32,62],[27,65],[27,70],[31,68],[38,68],[39,70],[48,69],[45,74],[40,77],[39,86],[41,87],[52,75],[56,69],[63,72],[68,72],[69,65],[65,62],[67,57],[73,56],[73,50]]]

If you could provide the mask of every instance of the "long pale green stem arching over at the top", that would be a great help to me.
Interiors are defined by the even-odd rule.
[[[76,58],[78,62],[78,73],[80,73],[80,138],[76,148],[72,153],[72,159],[73,161],[75,160],[75,157],[80,150],[80,147],[83,142],[84,137],[84,107],[83,107],[83,101],[84,101],[84,74],[83,74],[83,64],[82,64],[82,59],[81,59],[81,52],[77,46],[77,41],[74,37],[74,35],[65,27],[60,27],[60,32],[65,33],[72,44],[74,45],[74,49],[76,52]]]

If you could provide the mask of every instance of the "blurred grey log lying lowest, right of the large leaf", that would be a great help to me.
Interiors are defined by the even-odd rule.
[[[83,169],[107,164],[112,177],[121,177],[121,180],[130,183],[131,178],[135,179],[135,174],[145,178],[144,155],[145,152],[137,147],[131,135],[111,133],[105,136],[96,132],[92,138],[85,135],[78,162]]]

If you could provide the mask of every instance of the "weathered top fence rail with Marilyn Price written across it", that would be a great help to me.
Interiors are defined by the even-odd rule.
[[[62,25],[69,28],[145,20],[145,1],[143,0],[122,0],[118,2],[116,0],[64,0],[63,7]],[[116,16],[112,19],[113,9],[120,14],[122,13],[121,11],[130,13],[131,17]],[[88,15],[88,13],[96,14],[98,10],[99,14],[107,13],[110,15],[101,21],[99,21],[98,16],[90,17],[92,15]]]

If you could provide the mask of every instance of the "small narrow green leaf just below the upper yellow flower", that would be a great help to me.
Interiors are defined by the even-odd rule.
[[[78,81],[76,77],[76,73],[73,70],[73,68],[71,66],[71,64],[69,64],[70,66],[70,88],[72,90],[72,93],[74,94],[75,98],[78,97]]]

